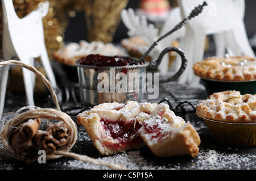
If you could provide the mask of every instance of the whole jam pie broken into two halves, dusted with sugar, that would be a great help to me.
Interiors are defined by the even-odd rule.
[[[80,113],[77,121],[104,155],[139,149],[145,144],[158,157],[195,156],[199,150],[195,129],[164,103],[103,103]]]

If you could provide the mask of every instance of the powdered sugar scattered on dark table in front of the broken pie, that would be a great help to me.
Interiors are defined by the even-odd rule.
[[[223,169],[256,169],[256,155],[252,154],[225,154],[216,150],[201,149],[195,158],[188,158],[188,162],[168,162],[166,159],[163,164],[156,164],[155,160],[159,158],[145,158],[140,150],[127,151],[127,153],[119,153],[100,158],[103,161],[118,163],[125,166],[129,170],[223,170]],[[181,159],[182,160],[182,159]],[[77,159],[67,161],[63,165],[65,169],[90,169],[90,170],[106,170],[108,167],[92,165]]]

